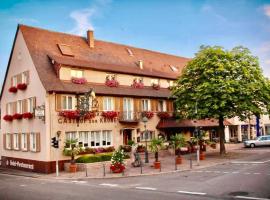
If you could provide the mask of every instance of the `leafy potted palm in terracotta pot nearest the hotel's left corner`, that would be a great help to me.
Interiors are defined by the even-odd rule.
[[[73,173],[77,171],[75,156],[80,153],[80,147],[77,145],[77,141],[78,139],[67,139],[66,148],[64,149],[64,155],[71,157],[69,171]]]

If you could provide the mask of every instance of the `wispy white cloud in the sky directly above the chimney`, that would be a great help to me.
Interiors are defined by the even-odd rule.
[[[70,32],[85,35],[87,30],[94,30],[93,18],[100,16],[102,9],[110,2],[111,0],[96,0],[89,8],[72,11],[70,17],[75,20],[75,26]]]

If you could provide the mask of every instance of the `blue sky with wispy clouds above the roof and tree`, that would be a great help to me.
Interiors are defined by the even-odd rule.
[[[18,23],[186,57],[243,45],[270,77],[270,0],[0,0],[0,82]]]

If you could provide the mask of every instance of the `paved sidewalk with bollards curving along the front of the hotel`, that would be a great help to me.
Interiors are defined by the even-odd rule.
[[[150,157],[149,163],[144,164],[143,167],[132,167],[131,160],[128,160],[126,163],[126,170],[124,174],[114,174],[110,172],[110,163],[97,163],[91,165],[87,168],[87,171],[76,172],[76,173],[68,173],[68,172],[60,172],[59,176],[56,177],[54,174],[37,174],[24,172],[19,170],[11,170],[11,169],[3,169],[0,168],[0,173],[13,174],[19,176],[28,176],[34,178],[43,178],[43,179],[85,179],[85,178],[116,178],[116,177],[133,177],[133,176],[145,176],[145,175],[157,175],[164,173],[174,173],[179,171],[187,171],[187,170],[196,170],[202,169],[218,164],[230,163],[231,161],[245,159],[248,156],[257,155],[257,151],[247,151],[243,148],[243,144],[226,144],[226,151],[228,152],[225,156],[219,155],[219,146],[217,145],[216,149],[207,148],[206,159],[201,160],[199,166],[197,165],[196,153],[192,155],[184,155],[183,163],[181,165],[177,165],[177,170],[175,166],[175,157],[174,155],[167,155],[163,157],[159,157],[161,161],[161,170],[154,169],[152,167],[154,158]],[[190,168],[190,158],[192,159],[192,169]],[[142,160],[144,161],[144,160]],[[104,171],[105,166],[105,171]],[[141,171],[142,170],[142,171]],[[105,176],[104,176],[105,172]]]

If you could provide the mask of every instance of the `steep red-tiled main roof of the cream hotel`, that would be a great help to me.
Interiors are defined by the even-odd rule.
[[[170,79],[176,79],[190,60],[188,58],[100,40],[95,40],[95,47],[89,48],[85,37],[25,25],[19,25],[18,28],[23,34],[39,78],[47,91],[84,91],[86,87],[84,85],[68,84],[59,80],[50,59],[63,65]],[[74,56],[62,55],[57,46],[58,44],[69,45]],[[129,55],[127,48],[132,51],[133,56]],[[137,62],[139,60],[143,60],[143,69],[138,67]],[[179,71],[173,72],[170,65],[178,67]],[[114,90],[111,88],[96,87],[101,92]],[[138,93],[134,89],[126,88],[122,91],[123,95],[125,95],[124,91],[127,94]],[[117,93],[117,91],[114,92]],[[141,90],[141,92],[142,94],[147,94],[150,90]],[[165,96],[165,94],[169,96],[169,90],[151,91],[149,95],[158,96],[160,92],[162,93],[160,96]]]

